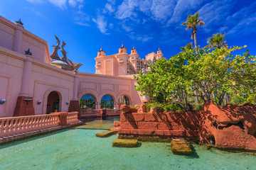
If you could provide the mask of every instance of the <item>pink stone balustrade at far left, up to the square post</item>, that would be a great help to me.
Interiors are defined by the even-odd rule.
[[[0,137],[58,126],[58,116],[50,114],[0,118]]]

